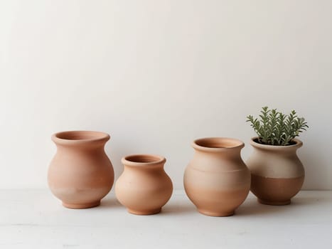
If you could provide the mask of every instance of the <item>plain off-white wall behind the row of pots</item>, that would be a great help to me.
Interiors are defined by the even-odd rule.
[[[46,187],[54,132],[164,155],[181,189],[198,137],[269,105],[306,117],[304,189],[332,189],[332,1],[1,1],[0,187]]]

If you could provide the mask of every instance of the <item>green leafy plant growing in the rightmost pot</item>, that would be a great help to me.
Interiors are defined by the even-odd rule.
[[[309,128],[304,117],[297,117],[294,110],[289,115],[284,115],[282,112],[277,112],[277,109],[269,110],[269,107],[262,107],[259,120],[249,115],[247,122],[250,122],[257,133],[257,142],[269,145],[294,144],[292,139]]]

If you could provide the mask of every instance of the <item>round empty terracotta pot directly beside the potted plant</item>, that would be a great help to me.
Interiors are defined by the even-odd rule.
[[[186,194],[207,216],[232,216],[250,190],[250,171],[240,156],[245,144],[213,137],[193,142],[195,154],[184,173]]]

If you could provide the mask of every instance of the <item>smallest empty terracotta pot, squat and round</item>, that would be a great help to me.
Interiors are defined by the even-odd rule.
[[[166,159],[149,154],[122,158],[124,171],[115,184],[115,194],[129,213],[159,213],[169,198],[173,185],[164,171]]]

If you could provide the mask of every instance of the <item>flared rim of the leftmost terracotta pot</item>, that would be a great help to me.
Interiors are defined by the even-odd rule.
[[[109,134],[105,132],[89,131],[89,130],[70,130],[56,132],[52,135],[55,144],[81,144],[86,142],[107,142]]]

